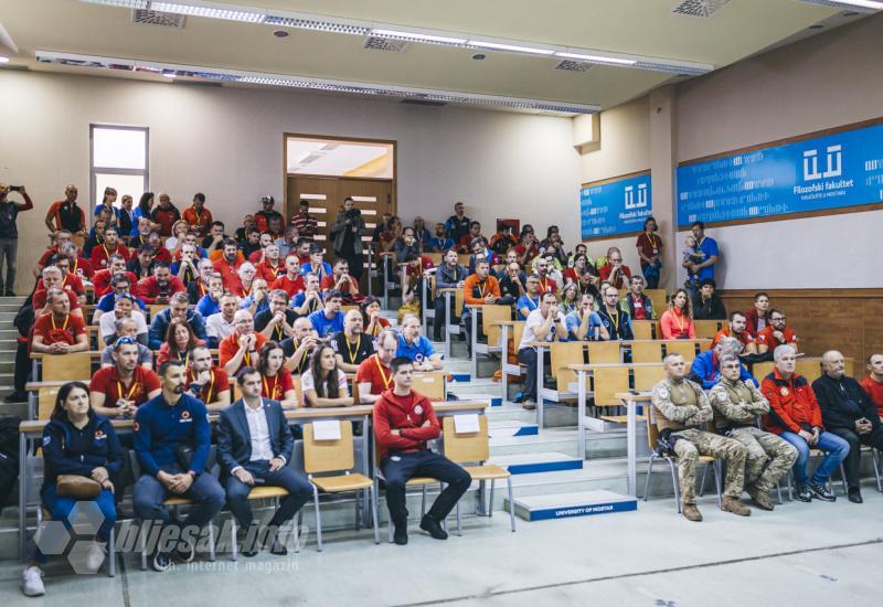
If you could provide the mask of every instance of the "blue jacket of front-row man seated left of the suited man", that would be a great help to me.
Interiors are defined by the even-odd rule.
[[[138,407],[132,429],[142,473],[157,476],[160,470],[182,468],[175,451],[179,446],[193,447],[189,470],[204,471],[212,429],[202,401],[182,394],[174,406],[169,406],[160,394]]]

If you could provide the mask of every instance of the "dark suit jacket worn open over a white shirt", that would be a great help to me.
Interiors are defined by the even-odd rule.
[[[264,413],[273,457],[283,456],[286,464],[291,461],[295,439],[278,401],[264,398]],[[221,412],[217,425],[217,458],[222,472],[228,475],[236,466],[246,466],[252,457],[252,435],[245,418],[245,403],[242,398]]]

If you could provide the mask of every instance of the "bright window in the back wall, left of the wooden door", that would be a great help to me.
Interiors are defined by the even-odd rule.
[[[114,206],[120,206],[126,194],[137,205],[141,194],[148,191],[148,129],[92,125],[89,147],[89,207],[95,209],[102,203],[104,190],[108,187],[117,191]]]

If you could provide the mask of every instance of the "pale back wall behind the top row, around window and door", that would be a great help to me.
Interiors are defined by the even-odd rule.
[[[283,134],[398,142],[398,212],[427,223],[467,214],[493,230],[518,217],[562,237],[579,235],[579,156],[571,120],[290,90],[209,88],[116,78],[0,71],[0,181],[28,187],[36,210],[19,217],[19,290],[45,246],[43,216],[64,185],[88,196],[91,123],[150,128],[150,188],[180,209],[196,191],[217,219],[238,225],[269,193],[281,200]],[[28,244],[25,244],[28,243]]]

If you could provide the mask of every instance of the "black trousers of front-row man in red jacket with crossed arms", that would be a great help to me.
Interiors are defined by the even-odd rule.
[[[386,505],[390,507],[390,518],[394,523],[401,523],[407,519],[405,483],[409,478],[429,477],[447,484],[428,512],[438,521],[450,513],[457,504],[457,500],[466,493],[472,482],[472,477],[460,466],[428,450],[409,454],[393,452],[384,457],[380,466],[383,477],[386,479]]]

